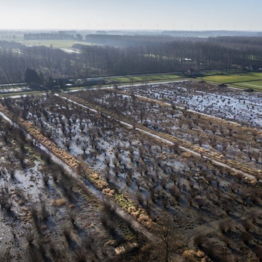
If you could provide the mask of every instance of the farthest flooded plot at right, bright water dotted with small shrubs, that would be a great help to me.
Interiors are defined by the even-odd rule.
[[[124,90],[246,126],[262,128],[261,94],[259,93],[196,81],[180,81],[151,85],[151,88],[125,88]]]

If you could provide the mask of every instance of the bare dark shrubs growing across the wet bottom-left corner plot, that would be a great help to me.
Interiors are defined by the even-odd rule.
[[[120,218],[115,213],[115,205],[104,199],[101,203],[93,198],[86,187],[78,189],[77,181],[72,175],[55,164],[51,156],[39,148],[33,140],[28,140],[21,129],[0,119],[0,144],[3,145],[5,165],[0,168],[0,207],[1,215],[12,224],[11,233],[16,243],[21,243],[20,257],[26,261],[99,261],[107,257],[110,260],[115,254],[106,250],[99,253],[97,245],[101,240],[93,238],[84,228],[85,220],[79,214],[83,210],[83,195],[88,205],[94,205],[97,216],[94,223],[101,221],[105,228],[104,238],[112,239],[114,247],[122,246],[122,253],[128,251],[128,239],[122,233],[130,232],[129,239],[136,241],[130,219]],[[32,158],[37,157],[41,163],[40,176],[30,175],[30,168],[34,167]],[[26,189],[27,184],[19,186],[20,176],[16,172],[21,170],[25,176],[30,175],[30,181],[35,181],[36,195],[31,195]],[[42,185],[39,187],[39,185]],[[79,191],[80,190],[80,191]],[[82,194],[80,194],[82,192]],[[52,198],[54,198],[52,200]],[[101,209],[101,211],[99,211]],[[87,211],[89,212],[89,211]],[[21,213],[24,213],[21,215]],[[26,227],[21,222],[28,217]],[[83,217],[83,216],[82,216]],[[88,217],[87,217],[88,219]],[[21,234],[21,230],[23,234]],[[52,233],[54,231],[54,234]],[[102,233],[100,233],[102,234]],[[140,238],[138,248],[145,243]],[[126,247],[125,247],[126,246]],[[112,247],[113,248],[113,247]],[[111,248],[111,249],[112,249]],[[131,247],[130,247],[131,248]],[[107,248],[108,249],[108,248]],[[9,249],[8,249],[9,250]],[[137,252],[139,251],[139,248]],[[136,256],[137,252],[134,253]],[[3,262],[11,261],[12,252],[0,254]],[[116,259],[119,259],[117,256]],[[120,261],[120,260],[119,260]]]

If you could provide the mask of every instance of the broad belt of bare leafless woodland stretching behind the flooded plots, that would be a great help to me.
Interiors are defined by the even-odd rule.
[[[79,53],[0,41],[0,82],[23,82],[28,68],[45,79],[77,79],[188,68],[262,67],[262,37],[108,36],[87,36],[87,41],[92,37],[99,45],[75,44]]]

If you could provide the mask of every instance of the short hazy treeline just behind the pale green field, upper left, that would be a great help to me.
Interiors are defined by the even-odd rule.
[[[32,33],[24,34],[25,40],[83,40],[81,34],[68,34],[63,31],[58,33]]]

